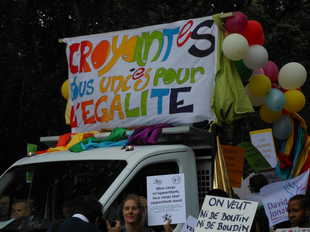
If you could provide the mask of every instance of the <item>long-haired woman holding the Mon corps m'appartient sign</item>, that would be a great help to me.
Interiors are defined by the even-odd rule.
[[[123,225],[123,232],[154,232],[144,227],[147,217],[146,204],[142,203],[141,197],[136,194],[131,193],[124,198],[117,210],[118,220]],[[164,225],[166,232],[172,232],[170,222],[171,219]]]

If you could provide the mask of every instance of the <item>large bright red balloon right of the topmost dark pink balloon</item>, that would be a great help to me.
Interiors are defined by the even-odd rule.
[[[243,35],[250,45],[254,45],[256,41],[259,41],[263,36],[263,28],[259,22],[255,20],[249,20],[248,25],[244,31],[239,34]]]

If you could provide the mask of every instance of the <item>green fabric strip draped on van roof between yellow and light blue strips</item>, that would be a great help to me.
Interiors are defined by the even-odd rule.
[[[69,148],[70,151],[72,152],[82,152],[85,151],[85,149],[82,148],[81,143],[83,144],[88,144],[88,141],[91,139],[92,143],[101,143],[104,141],[109,141],[109,142],[117,142],[120,140],[124,134],[125,131],[129,131],[129,129],[122,128],[122,127],[116,127],[111,134],[108,136],[108,138],[105,139],[97,139],[95,137],[89,137],[85,140],[82,140],[76,144],[74,144],[71,148]]]

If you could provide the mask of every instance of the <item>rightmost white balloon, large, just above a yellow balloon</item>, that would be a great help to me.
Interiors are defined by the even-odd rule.
[[[299,63],[291,62],[284,65],[278,75],[278,83],[281,88],[297,89],[305,83],[307,78],[306,69]]]

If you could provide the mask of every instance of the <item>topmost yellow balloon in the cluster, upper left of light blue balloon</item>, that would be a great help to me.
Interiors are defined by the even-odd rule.
[[[258,74],[253,76],[249,82],[249,90],[256,97],[263,97],[271,89],[271,81],[268,76]]]

